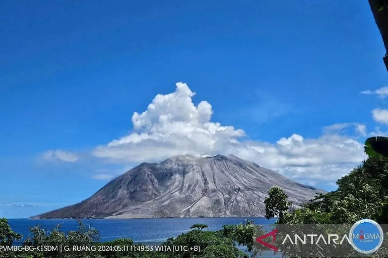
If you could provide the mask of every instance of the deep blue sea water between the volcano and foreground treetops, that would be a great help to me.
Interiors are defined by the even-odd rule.
[[[264,225],[264,228],[270,228],[275,222],[274,219],[266,218],[132,218],[132,219],[83,219],[86,225],[99,230],[100,241],[110,241],[117,238],[131,238],[135,243],[161,243],[168,237],[177,237],[178,235],[190,230],[190,227],[196,223],[208,225],[207,230],[219,230],[223,225],[237,225],[244,222],[245,219],[253,220],[255,224]],[[78,227],[75,219],[9,219],[10,227],[17,233],[23,235],[23,239],[31,236],[29,228],[35,225],[41,225],[50,231],[55,225],[62,223],[61,230],[67,232],[76,230]],[[18,241],[14,244],[21,244]]]

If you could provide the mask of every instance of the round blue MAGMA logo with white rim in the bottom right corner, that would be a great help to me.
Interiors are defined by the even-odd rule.
[[[359,220],[350,229],[349,240],[357,252],[368,255],[376,252],[383,244],[383,229],[374,220]]]

